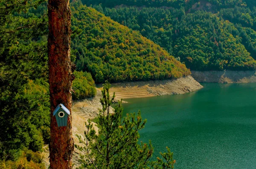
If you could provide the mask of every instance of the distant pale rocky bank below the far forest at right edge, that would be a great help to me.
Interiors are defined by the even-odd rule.
[[[198,82],[206,83],[255,83],[256,71],[191,71]]]

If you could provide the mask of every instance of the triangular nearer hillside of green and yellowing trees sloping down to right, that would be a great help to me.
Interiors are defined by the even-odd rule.
[[[138,32],[76,3],[72,7],[76,66],[96,83],[179,78],[190,71]]]

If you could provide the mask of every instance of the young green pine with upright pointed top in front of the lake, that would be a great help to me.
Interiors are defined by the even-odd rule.
[[[109,94],[110,84],[103,85],[102,110],[96,119],[99,133],[93,129],[90,120],[86,123],[85,139],[78,136],[84,146],[76,146],[85,155],[81,155],[79,169],[172,169],[175,160],[173,153],[167,147],[166,153],[160,153],[162,158],[152,161],[153,147],[140,143],[139,131],[145,126],[146,120],[142,120],[140,111],[122,117],[122,105],[119,101],[115,107],[115,113],[109,112],[109,107],[114,99]]]

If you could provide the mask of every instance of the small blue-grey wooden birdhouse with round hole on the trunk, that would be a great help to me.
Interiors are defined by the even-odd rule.
[[[70,111],[63,104],[59,104],[53,111],[53,115],[56,118],[58,127],[67,126],[67,116],[70,115]]]

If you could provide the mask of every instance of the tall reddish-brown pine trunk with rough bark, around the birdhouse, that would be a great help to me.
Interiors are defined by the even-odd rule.
[[[69,0],[49,0],[49,85],[51,101],[50,168],[71,169],[74,142],[71,133],[72,80],[70,63],[71,11]],[[52,112],[58,104],[70,110],[67,127],[58,127]]]

